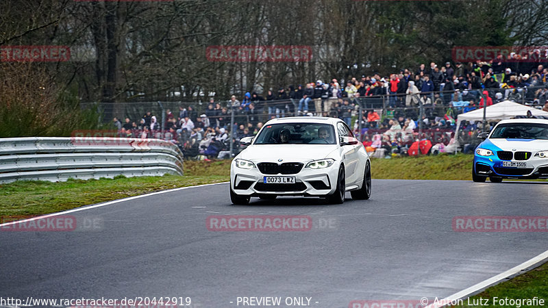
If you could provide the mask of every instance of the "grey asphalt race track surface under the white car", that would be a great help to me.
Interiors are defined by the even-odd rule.
[[[443,298],[546,251],[546,232],[456,232],[454,216],[547,216],[548,183],[374,180],[369,201],[252,198],[208,185],[76,211],[76,231],[0,232],[0,296]],[[310,216],[310,231],[210,231],[208,216]],[[231,303],[232,302],[232,303]],[[180,306],[179,306],[180,307]],[[287,307],[282,305],[280,307]],[[294,306],[295,307],[295,306]]]

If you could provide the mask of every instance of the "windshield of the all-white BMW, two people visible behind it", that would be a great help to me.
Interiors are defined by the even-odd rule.
[[[333,125],[282,123],[266,125],[253,144],[336,144]]]

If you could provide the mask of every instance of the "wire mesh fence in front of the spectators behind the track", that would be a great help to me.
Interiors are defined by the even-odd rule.
[[[496,124],[487,120],[464,121],[457,127],[459,114],[501,101],[548,111],[547,99],[548,88],[538,86],[436,92],[411,89],[400,94],[271,101],[245,98],[209,103],[82,103],[82,107],[96,108],[101,114],[98,120],[104,122],[115,123],[116,117],[121,136],[171,140],[190,157],[233,157],[242,149],[240,138],[255,135],[271,118],[286,116],[340,118],[365,146],[371,147],[369,150],[382,148],[387,155],[410,155],[409,149],[419,140],[427,140],[432,151],[465,151],[467,144],[475,143],[473,136],[477,131]],[[212,144],[216,146],[207,151]],[[420,155],[421,151],[416,153]]]

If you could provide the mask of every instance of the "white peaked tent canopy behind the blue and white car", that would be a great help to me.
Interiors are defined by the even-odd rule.
[[[504,120],[506,118],[513,118],[514,116],[525,116],[527,111],[530,110],[533,116],[547,116],[548,112],[539,110],[533,107],[526,105],[521,105],[519,103],[514,103],[512,101],[501,101],[495,105],[490,105],[486,107],[485,118],[486,120]],[[477,109],[471,112],[466,112],[465,114],[459,114],[457,117],[457,129],[460,127],[460,123],[463,120],[474,120],[482,121],[484,120],[484,109]]]

